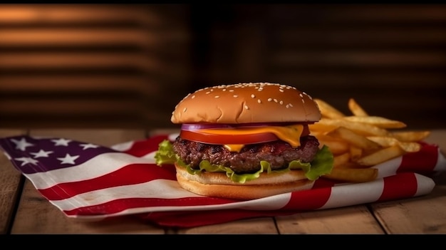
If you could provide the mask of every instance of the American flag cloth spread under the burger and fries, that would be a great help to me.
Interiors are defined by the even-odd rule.
[[[340,183],[324,178],[310,190],[249,201],[204,197],[182,189],[173,165],[155,165],[162,140],[177,134],[103,147],[56,137],[4,137],[0,147],[14,167],[67,217],[105,219],[135,215],[162,226],[202,226],[316,209],[384,202],[428,194],[432,175],[446,170],[437,145],[422,142],[378,168],[373,182]]]

